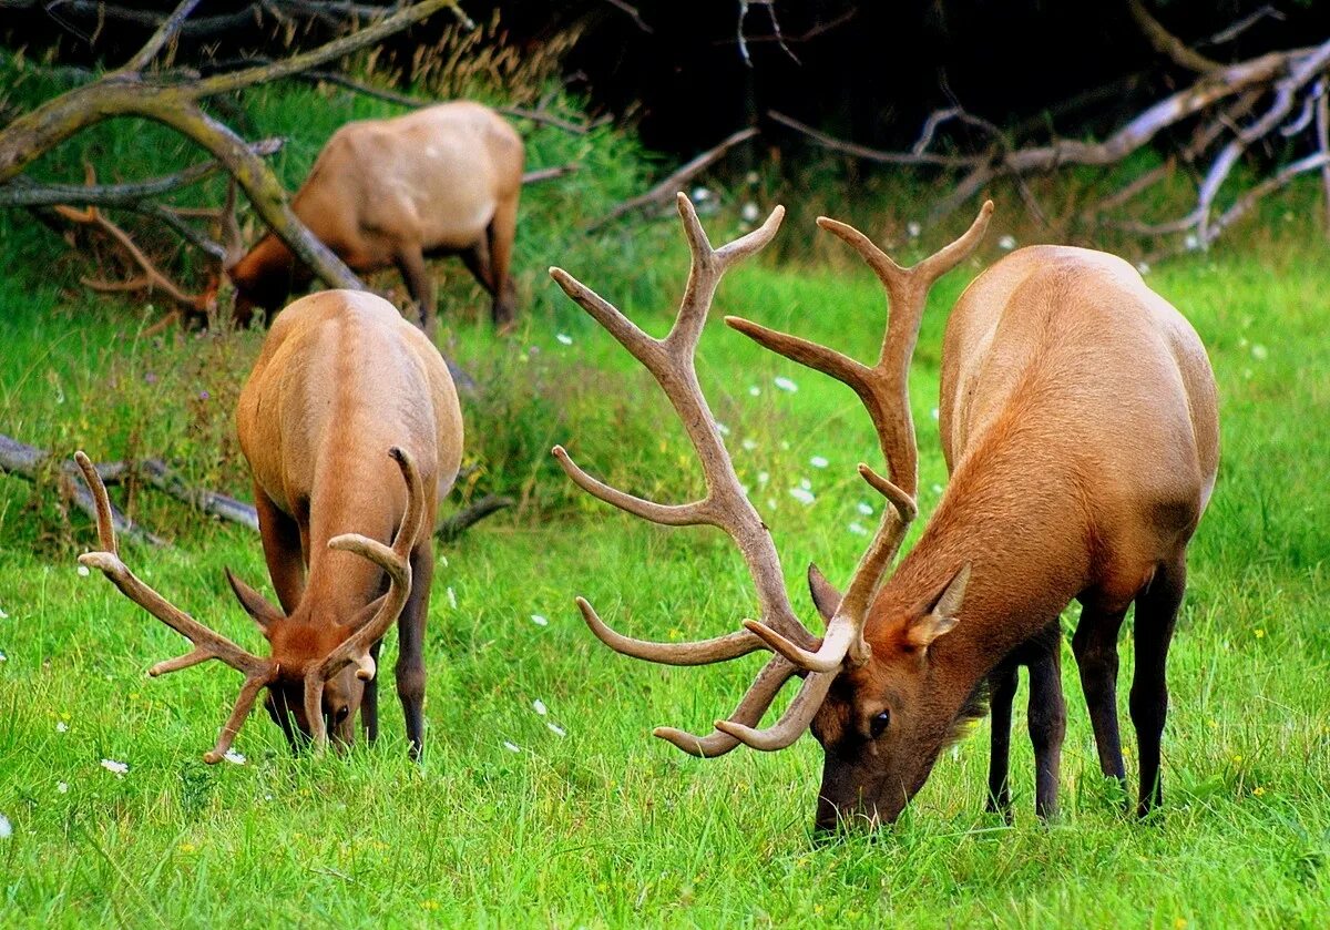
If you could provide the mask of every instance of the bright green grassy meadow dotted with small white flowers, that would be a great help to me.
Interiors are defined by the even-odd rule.
[[[318,112],[309,94],[258,105],[255,134],[265,120]],[[302,132],[282,156],[286,177],[309,164],[323,126]],[[560,263],[662,333],[682,291],[682,237],[668,220],[583,235],[597,205],[633,189],[640,153],[618,137],[533,138],[532,166],[605,161],[567,186],[532,189],[516,335],[493,337],[477,289],[439,265],[440,345],[480,383],[463,402],[473,471],[446,508],[496,490],[519,506],[438,549],[423,764],[407,760],[387,687],[374,749],[291,758],[259,712],[235,744],[246,761],[206,766],[237,676],[205,665],[146,679],[185,643],[104,579],[80,576],[74,557],[94,534],[53,478],[0,476],[0,814],[11,825],[0,834],[0,925],[1326,925],[1330,265],[1310,222],[1271,208],[1245,239],[1148,278],[1210,350],[1224,431],[1169,663],[1165,808],[1137,822],[1100,778],[1064,648],[1056,822],[1033,817],[1023,685],[1012,825],[983,813],[982,722],[894,829],[815,845],[811,738],[700,761],[650,737],[657,724],[705,729],[728,713],[758,657],[704,669],[634,663],[601,647],[573,608],[585,595],[621,629],[682,639],[734,628],[753,597],[721,534],[612,512],[575,492],[548,455],[565,443],[593,474],[658,499],[701,486],[649,378],[544,274]],[[64,169],[78,156],[66,153]],[[704,218],[713,238],[737,232],[747,197],[769,208],[765,193],[762,182],[732,192]],[[999,213],[979,255],[935,289],[924,323],[912,373],[924,515],[946,482],[934,419],[946,311],[1011,230]],[[923,238],[940,243],[935,230]],[[200,483],[246,494],[230,407],[261,331],[148,338],[160,307],[86,295],[60,239],[21,217],[0,218],[0,432],[94,459],[165,455]],[[876,502],[854,466],[874,462],[876,444],[845,387],[718,318],[750,315],[867,358],[882,306],[871,274],[791,221],[778,257],[721,286],[702,341],[704,387],[810,619],[805,565],[815,559],[843,580],[871,530],[858,504]],[[811,503],[790,494],[805,482]],[[129,506],[172,542],[126,547],[130,567],[258,648],[222,575],[230,565],[266,589],[257,536],[148,490]],[[1065,628],[1075,621],[1071,611]],[[1128,624],[1129,772],[1130,635]]]

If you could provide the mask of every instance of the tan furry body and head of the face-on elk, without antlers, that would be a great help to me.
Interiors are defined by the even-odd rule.
[[[384,585],[378,565],[330,551],[329,540],[354,532],[392,542],[407,500],[388,455],[394,446],[410,454],[426,488],[427,520],[412,547],[412,592],[399,621],[402,660],[415,660],[411,651],[419,643],[408,644],[408,636],[419,640],[428,608],[434,515],[462,462],[458,395],[439,351],[392,305],[332,290],[294,302],[274,322],[241,391],[235,424],[282,609],[253,592],[247,597],[239,585],[237,593],[282,667],[270,688],[270,712],[283,729],[290,712],[309,732],[301,701],[305,669],[350,636]],[[419,676],[408,691],[423,689],[423,668]],[[398,684],[402,691],[402,661]],[[351,668],[327,684],[326,708],[348,710],[338,728],[343,741],[354,734],[360,691]],[[407,697],[403,691],[404,702]]]

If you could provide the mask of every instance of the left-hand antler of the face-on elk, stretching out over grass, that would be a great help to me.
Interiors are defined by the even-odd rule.
[[[194,649],[192,652],[176,659],[168,659],[157,663],[148,669],[148,673],[156,677],[158,675],[178,672],[182,668],[198,665],[209,659],[215,659],[226,665],[230,665],[245,676],[245,684],[241,685],[241,693],[235,698],[235,708],[231,710],[231,716],[222,726],[222,732],[217,737],[217,745],[213,746],[211,752],[203,754],[205,762],[215,765],[222,761],[226,750],[231,748],[235,734],[239,732],[241,726],[245,724],[245,718],[249,717],[249,713],[254,706],[254,700],[258,697],[258,692],[263,688],[263,685],[273,680],[273,676],[277,673],[277,668],[271,660],[259,659],[258,656],[246,652],[221,633],[217,633],[198,623],[150,587],[144,584],[132,571],[129,571],[125,563],[120,560],[120,547],[116,540],[116,530],[110,520],[110,500],[106,496],[106,486],[102,484],[101,476],[97,474],[97,470],[93,467],[86,455],[81,451],[74,452],[74,460],[78,463],[84,480],[88,482],[88,487],[92,490],[93,499],[97,503],[97,536],[101,542],[101,551],[85,552],[78,556],[78,563],[89,568],[98,569],[102,575],[110,579],[112,584],[120,588],[120,592],[129,597],[129,600],[142,607],[145,611],[194,644]]]

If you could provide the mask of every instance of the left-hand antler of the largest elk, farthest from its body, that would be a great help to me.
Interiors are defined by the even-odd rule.
[[[592,478],[577,467],[561,446],[555,446],[553,455],[579,487],[620,510],[665,526],[702,523],[724,530],[734,540],[753,577],[763,628],[779,631],[786,641],[811,647],[817,640],[805,629],[790,607],[781,560],[771,543],[771,535],[749,503],[734,474],[725,440],[698,385],[694,362],[697,342],[721,278],[735,262],[757,253],[771,241],[781,228],[785,209],[775,208],[762,226],[720,249],[712,247],[692,202],[682,193],[678,194],[678,213],[692,251],[692,269],[674,326],[664,339],[646,335],[613,305],[563,269],[552,267],[549,274],[564,293],[604,326],[660,383],[678,414],[693,448],[697,450],[706,479],[706,495],[689,504],[658,504]],[[670,665],[704,665],[737,659],[766,647],[759,636],[749,631],[700,643],[634,640],[605,625],[587,600],[579,597],[577,605],[587,625],[605,645],[634,659]],[[732,721],[755,724],[770,706],[781,685],[795,672],[797,668],[779,656],[767,661],[749,693],[735,708]],[[720,756],[738,745],[738,740],[724,732],[697,737],[677,729],[661,728],[656,730],[656,736],[696,756]]]

